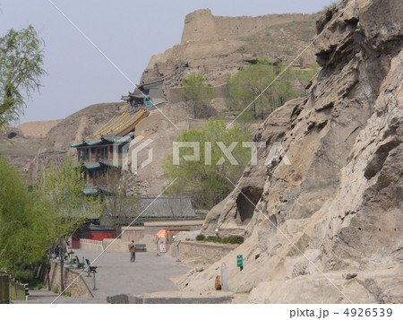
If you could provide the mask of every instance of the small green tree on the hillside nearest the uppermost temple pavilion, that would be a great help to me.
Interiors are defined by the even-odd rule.
[[[189,74],[182,85],[182,96],[192,110],[193,117],[210,117],[210,100],[214,98],[214,88],[205,84],[202,74]]]

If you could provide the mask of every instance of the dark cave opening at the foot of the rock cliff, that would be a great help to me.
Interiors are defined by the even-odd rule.
[[[261,188],[246,187],[236,199],[236,224],[244,226],[251,221],[256,204],[261,199]]]

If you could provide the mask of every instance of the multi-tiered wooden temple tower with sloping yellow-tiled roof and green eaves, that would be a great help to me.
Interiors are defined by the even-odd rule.
[[[122,167],[124,146],[134,138],[135,127],[148,117],[149,111],[129,108],[112,117],[106,125],[81,142],[71,143],[77,149],[78,160],[82,164],[86,180],[84,194],[106,192],[107,186],[99,184],[109,169]],[[115,153],[115,154],[114,154]]]

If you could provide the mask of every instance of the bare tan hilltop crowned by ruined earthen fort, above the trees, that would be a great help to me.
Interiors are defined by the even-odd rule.
[[[209,9],[186,15],[182,42],[154,55],[141,82],[165,76],[166,88],[179,86],[192,73],[201,73],[210,85],[226,82],[229,75],[260,57],[292,61],[314,35],[316,14],[269,14],[260,17],[221,17]],[[298,59],[313,62],[308,48]]]

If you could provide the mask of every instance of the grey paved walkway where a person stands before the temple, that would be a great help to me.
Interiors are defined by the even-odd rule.
[[[99,253],[74,250],[74,253],[89,259],[92,262]],[[57,298],[55,303],[107,303],[107,296],[116,294],[142,294],[158,291],[177,290],[169,278],[184,274],[190,270],[184,265],[176,265],[174,258],[156,256],[155,253],[138,252],[136,262],[130,262],[130,253],[103,253],[91,263],[97,266],[96,288],[92,275],[87,277],[87,272],[81,274],[94,298]],[[67,289],[68,290],[68,289]],[[30,290],[29,301],[13,301],[15,303],[51,303],[57,297],[56,294],[43,290]]]

